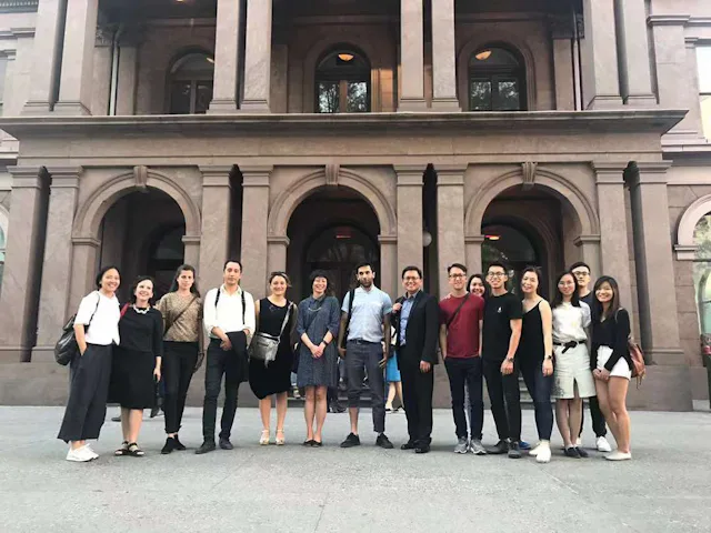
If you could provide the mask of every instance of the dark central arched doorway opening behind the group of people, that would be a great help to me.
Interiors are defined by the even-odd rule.
[[[359,262],[372,261],[378,276],[379,232],[372,208],[351,189],[324,188],[304,199],[291,215],[287,230],[291,298],[309,294],[309,275],[316,269],[329,273],[339,299],[354,283],[353,271]],[[379,285],[378,278],[375,283]]]

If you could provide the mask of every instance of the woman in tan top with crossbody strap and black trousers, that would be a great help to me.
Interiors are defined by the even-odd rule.
[[[186,398],[198,361],[203,356],[202,300],[196,280],[196,269],[178,266],[170,292],[156,304],[163,315],[162,374],[166,384],[166,445],[162,454],[184,450],[178,439]]]

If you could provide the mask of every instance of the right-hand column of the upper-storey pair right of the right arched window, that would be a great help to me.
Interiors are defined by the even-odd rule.
[[[614,9],[622,99],[628,105],[654,107],[644,0],[614,0]]]

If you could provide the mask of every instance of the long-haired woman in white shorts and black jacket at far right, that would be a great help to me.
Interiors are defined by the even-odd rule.
[[[595,379],[600,410],[604,414],[618,449],[605,459],[625,461],[630,452],[630,415],[627,391],[632,378],[628,348],[630,315],[620,306],[620,291],[613,278],[603,275],[593,289],[592,353],[590,366]]]

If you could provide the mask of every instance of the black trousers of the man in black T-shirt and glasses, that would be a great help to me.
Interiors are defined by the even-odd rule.
[[[519,368],[513,365],[509,375],[501,373],[503,360],[484,359],[483,370],[491,401],[491,414],[500,440],[521,440],[521,391],[519,390]]]

